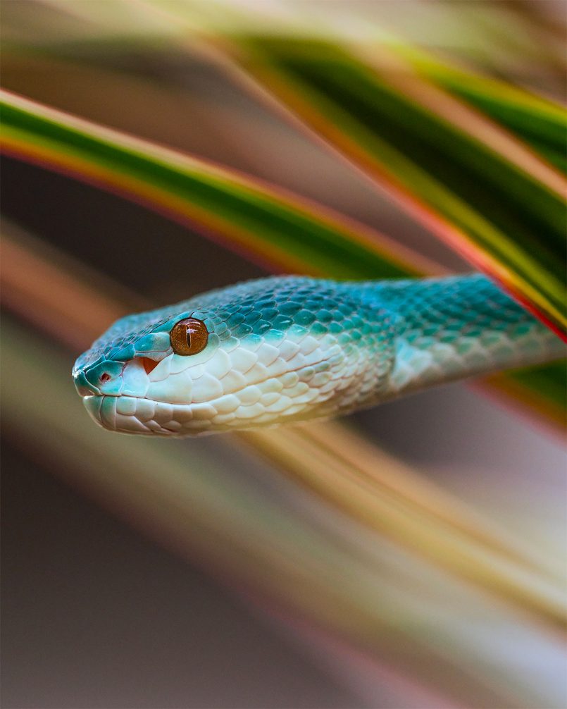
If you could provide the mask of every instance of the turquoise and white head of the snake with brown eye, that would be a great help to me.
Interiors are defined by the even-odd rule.
[[[388,313],[366,313],[344,284],[261,279],[121,318],[73,377],[108,430],[274,425],[370,405],[391,369],[390,330]]]

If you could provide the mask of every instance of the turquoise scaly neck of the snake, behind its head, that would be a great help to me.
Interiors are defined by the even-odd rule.
[[[549,328],[481,274],[380,281],[366,286],[366,298],[396,317],[382,400],[565,354]]]

